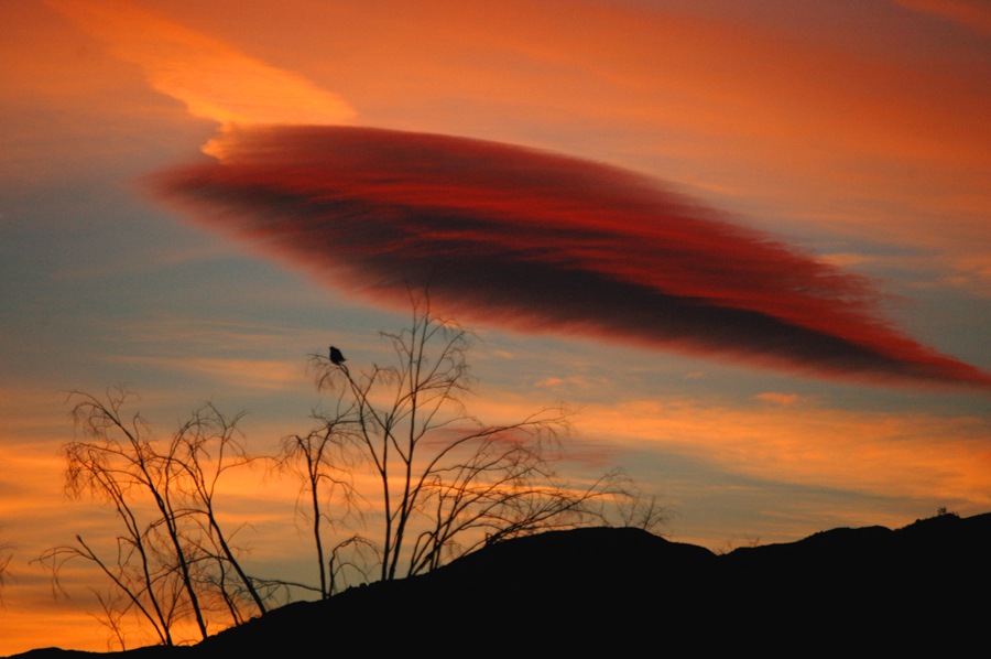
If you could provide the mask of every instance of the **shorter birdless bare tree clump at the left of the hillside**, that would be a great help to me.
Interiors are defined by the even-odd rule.
[[[108,392],[106,401],[74,392],[79,436],[63,447],[66,493],[89,494],[117,514],[116,557],[98,554],[76,536],[76,544],[51,549],[41,561],[56,584],[67,561],[83,559],[102,571],[110,591],[98,596],[121,647],[120,620],[128,613],[163,645],[175,644],[174,626],[189,616],[203,638],[213,611],[226,609],[231,624],[241,623],[246,596],[264,613],[214,507],[220,475],[250,462],[236,441],[240,417],[227,419],[206,406],[170,441],[156,442],[140,414],[124,414],[128,398],[123,390]]]

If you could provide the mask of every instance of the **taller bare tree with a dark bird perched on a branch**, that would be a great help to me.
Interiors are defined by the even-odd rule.
[[[564,409],[505,425],[469,415],[464,398],[472,385],[466,361],[471,335],[434,314],[426,295],[411,299],[410,327],[382,333],[395,353],[393,365],[352,375],[339,352],[338,358],[333,352],[312,356],[317,387],[336,397],[337,413],[318,417],[308,435],[283,443],[282,464],[300,465],[313,501],[322,588],[317,488],[326,479],[350,493],[356,455],[379,484],[378,496],[366,498],[380,500],[374,519],[381,529],[373,537],[381,580],[433,570],[487,541],[601,520],[603,499],[621,489],[617,473],[580,488],[557,474],[560,439],[569,430]]]

